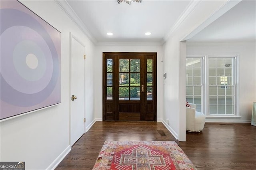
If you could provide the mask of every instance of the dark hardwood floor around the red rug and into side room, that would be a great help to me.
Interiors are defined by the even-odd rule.
[[[200,170],[256,170],[256,127],[249,123],[206,123],[186,139],[179,142],[160,122],[96,122],[56,170],[91,170],[104,140],[174,140]]]

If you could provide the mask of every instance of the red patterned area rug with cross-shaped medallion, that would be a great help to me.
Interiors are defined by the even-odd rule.
[[[196,170],[174,141],[105,141],[93,170]]]

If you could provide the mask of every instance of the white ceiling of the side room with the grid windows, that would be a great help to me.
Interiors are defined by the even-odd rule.
[[[256,1],[243,0],[196,34],[189,42],[256,40]]]

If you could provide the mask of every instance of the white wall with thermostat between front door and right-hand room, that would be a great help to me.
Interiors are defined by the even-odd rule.
[[[186,37],[192,36],[216,20],[215,14],[225,12],[235,4],[228,4],[223,1],[200,1],[194,6],[194,10],[180,22],[175,30],[170,32],[164,44],[164,72],[167,79],[164,83],[163,99],[163,120],[169,119],[167,128],[180,141],[186,140],[186,44],[181,42]],[[216,14],[217,15],[217,14]]]

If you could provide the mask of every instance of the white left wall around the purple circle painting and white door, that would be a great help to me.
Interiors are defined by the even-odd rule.
[[[28,170],[53,168],[70,149],[70,32],[86,45],[86,126],[94,120],[92,71],[94,44],[55,1],[22,0],[22,3],[61,32],[62,103],[1,122],[0,161],[25,161]]]

